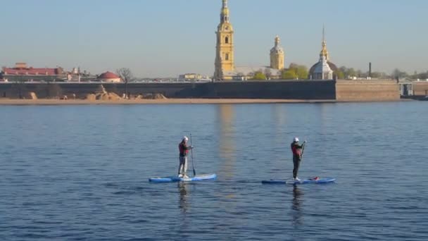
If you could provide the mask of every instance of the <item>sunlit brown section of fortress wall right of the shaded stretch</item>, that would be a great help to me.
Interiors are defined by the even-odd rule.
[[[394,80],[337,80],[337,101],[396,101],[400,99]]]

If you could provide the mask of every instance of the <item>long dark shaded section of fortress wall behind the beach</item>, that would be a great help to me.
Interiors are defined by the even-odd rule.
[[[123,83],[103,83],[107,92],[122,96]],[[100,83],[2,83],[0,97],[19,99],[30,92],[39,98],[84,98],[102,91]],[[169,98],[334,99],[333,81],[258,81],[208,83],[130,83],[130,94],[159,93]]]

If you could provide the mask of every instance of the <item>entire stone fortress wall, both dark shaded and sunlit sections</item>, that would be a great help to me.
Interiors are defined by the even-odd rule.
[[[1,83],[0,98],[39,99],[75,95],[78,99],[106,89],[119,96],[124,83]],[[428,83],[414,85],[415,94],[425,94]],[[137,94],[163,94],[168,98],[225,99],[314,99],[337,101],[395,101],[400,99],[398,84],[391,80],[277,80],[206,83],[130,83],[128,91]]]

